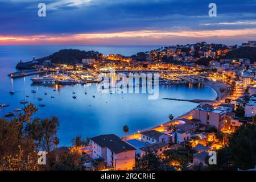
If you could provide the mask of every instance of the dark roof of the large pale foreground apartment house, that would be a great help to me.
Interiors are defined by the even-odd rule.
[[[121,153],[127,150],[136,150],[130,144],[121,140],[117,135],[100,135],[97,137],[91,138],[93,142],[97,143],[101,147],[108,147],[115,154]]]

